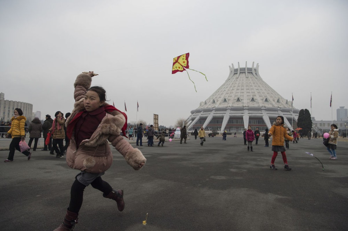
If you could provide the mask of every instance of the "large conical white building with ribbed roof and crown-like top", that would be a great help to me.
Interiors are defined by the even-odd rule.
[[[252,67],[230,67],[227,80],[199,107],[191,111],[186,121],[188,130],[242,132],[248,126],[254,131],[259,127],[269,129],[278,115],[292,129],[296,124],[299,110],[292,108],[292,101],[284,99],[259,74],[259,64]],[[279,89],[280,90],[280,89]]]

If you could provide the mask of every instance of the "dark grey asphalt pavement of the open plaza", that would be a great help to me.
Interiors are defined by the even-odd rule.
[[[88,186],[74,230],[348,230],[348,142],[339,141],[338,160],[329,159],[322,139],[291,142],[286,155],[292,170],[284,170],[279,153],[275,171],[262,138],[253,152],[241,136],[207,137],[203,146],[190,138],[164,147],[148,147],[143,138],[139,148],[147,163],[140,171],[112,147],[113,164],[102,178],[124,189],[125,210]],[[16,151],[14,162],[3,163],[7,155],[0,151],[0,230],[54,230],[78,170],[49,151],[34,151],[29,161]]]

